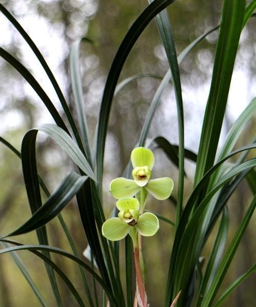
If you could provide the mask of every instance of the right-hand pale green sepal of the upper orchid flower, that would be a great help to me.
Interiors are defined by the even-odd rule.
[[[153,179],[144,187],[157,200],[166,200],[172,194],[174,182],[169,177]]]

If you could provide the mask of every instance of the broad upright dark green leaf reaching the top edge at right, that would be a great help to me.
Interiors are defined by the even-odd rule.
[[[245,0],[224,1],[214,70],[199,145],[195,185],[214,163],[244,11]]]

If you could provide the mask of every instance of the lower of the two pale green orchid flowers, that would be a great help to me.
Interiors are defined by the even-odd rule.
[[[125,198],[116,202],[120,211],[118,217],[109,218],[102,225],[102,235],[109,240],[117,241],[127,234],[134,236],[134,230],[143,236],[152,236],[159,229],[159,221],[155,214],[145,212],[139,214],[140,203],[135,198]]]

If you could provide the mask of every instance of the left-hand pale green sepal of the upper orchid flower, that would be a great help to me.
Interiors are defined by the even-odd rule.
[[[140,187],[132,179],[116,178],[110,183],[110,192],[115,199],[133,197]]]

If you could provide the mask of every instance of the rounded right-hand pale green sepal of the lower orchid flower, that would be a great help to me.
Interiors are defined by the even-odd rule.
[[[155,214],[145,212],[141,214],[138,224],[135,227],[141,235],[151,236],[158,231],[159,221]]]

